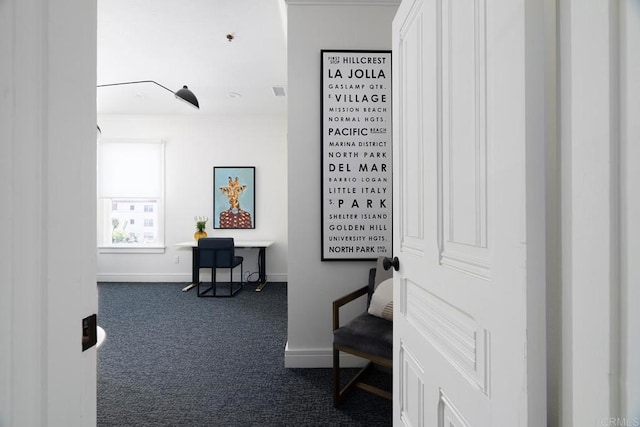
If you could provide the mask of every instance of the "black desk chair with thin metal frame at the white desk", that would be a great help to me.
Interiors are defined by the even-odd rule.
[[[232,297],[244,286],[242,276],[244,275],[242,261],[243,258],[235,255],[235,245],[231,237],[205,237],[198,240],[198,250],[196,251],[197,264],[195,268],[211,269],[211,286],[200,290],[200,279],[198,278],[199,297]],[[240,282],[233,281],[233,269],[240,266]],[[229,269],[229,293],[218,294],[216,270],[218,268]]]

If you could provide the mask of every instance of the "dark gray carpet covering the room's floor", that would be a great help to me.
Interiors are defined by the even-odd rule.
[[[98,426],[390,426],[391,402],[330,369],[285,369],[287,285],[197,298],[184,283],[100,283]],[[327,307],[331,310],[331,307]]]

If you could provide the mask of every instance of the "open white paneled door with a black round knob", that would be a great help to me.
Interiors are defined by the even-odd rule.
[[[546,425],[542,3],[395,17],[394,425]]]

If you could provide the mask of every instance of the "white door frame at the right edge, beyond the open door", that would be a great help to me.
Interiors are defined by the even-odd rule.
[[[559,0],[562,425],[640,423],[640,4]],[[616,424],[617,423],[617,424]]]

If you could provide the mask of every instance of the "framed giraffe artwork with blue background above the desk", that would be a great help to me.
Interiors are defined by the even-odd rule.
[[[213,228],[256,228],[256,168],[213,168]]]

